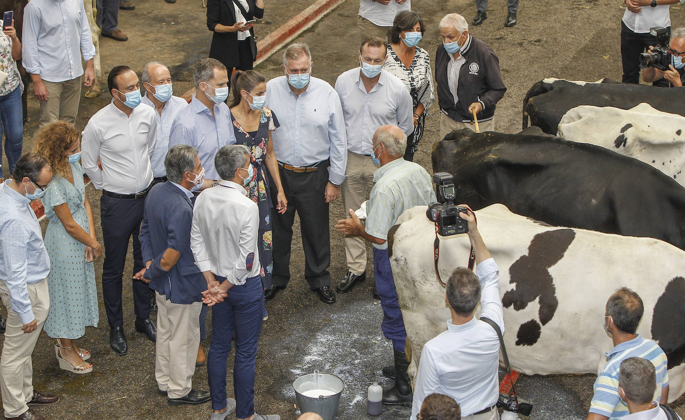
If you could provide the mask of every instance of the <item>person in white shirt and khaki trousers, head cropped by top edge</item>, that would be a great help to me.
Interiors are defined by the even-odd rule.
[[[412,0],[359,0],[357,26],[362,36],[388,38],[395,15],[412,10]]]

